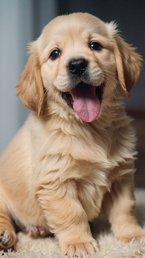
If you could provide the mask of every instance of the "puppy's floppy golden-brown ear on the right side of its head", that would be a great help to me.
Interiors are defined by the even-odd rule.
[[[131,47],[120,36],[114,35],[112,42],[121,90],[129,98],[129,92],[139,78],[143,59],[135,52],[136,48]]]

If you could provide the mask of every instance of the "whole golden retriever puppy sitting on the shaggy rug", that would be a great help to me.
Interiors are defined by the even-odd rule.
[[[102,211],[115,237],[139,240],[136,137],[118,84],[129,97],[141,56],[88,13],[56,17],[29,48],[17,95],[33,112],[0,160],[1,248],[15,244],[15,221],[50,229],[68,255],[93,253],[88,222]]]

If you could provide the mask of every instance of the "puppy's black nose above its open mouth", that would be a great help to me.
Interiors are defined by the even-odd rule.
[[[83,58],[73,59],[73,60],[69,61],[68,67],[72,74],[76,74],[76,75],[80,76],[86,70],[87,60],[85,60]]]

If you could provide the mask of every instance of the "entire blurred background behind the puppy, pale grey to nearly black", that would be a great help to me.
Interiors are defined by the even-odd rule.
[[[28,59],[27,43],[35,40],[43,27],[57,15],[78,11],[89,12],[103,21],[117,21],[126,41],[145,56],[144,0],[0,0],[0,153],[29,113],[15,97],[14,89]],[[130,100],[125,100],[131,114],[136,113],[140,118],[145,114],[144,83],[143,69]],[[145,128],[143,130],[141,123],[138,127],[141,137],[144,137]],[[140,139],[140,145],[145,145]],[[145,152],[140,153],[144,159]]]

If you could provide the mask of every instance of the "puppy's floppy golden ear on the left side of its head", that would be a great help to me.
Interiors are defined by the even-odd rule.
[[[27,108],[38,112],[39,117],[44,105],[44,89],[37,55],[30,55],[16,87],[18,88],[17,96],[19,95],[23,104]]]

